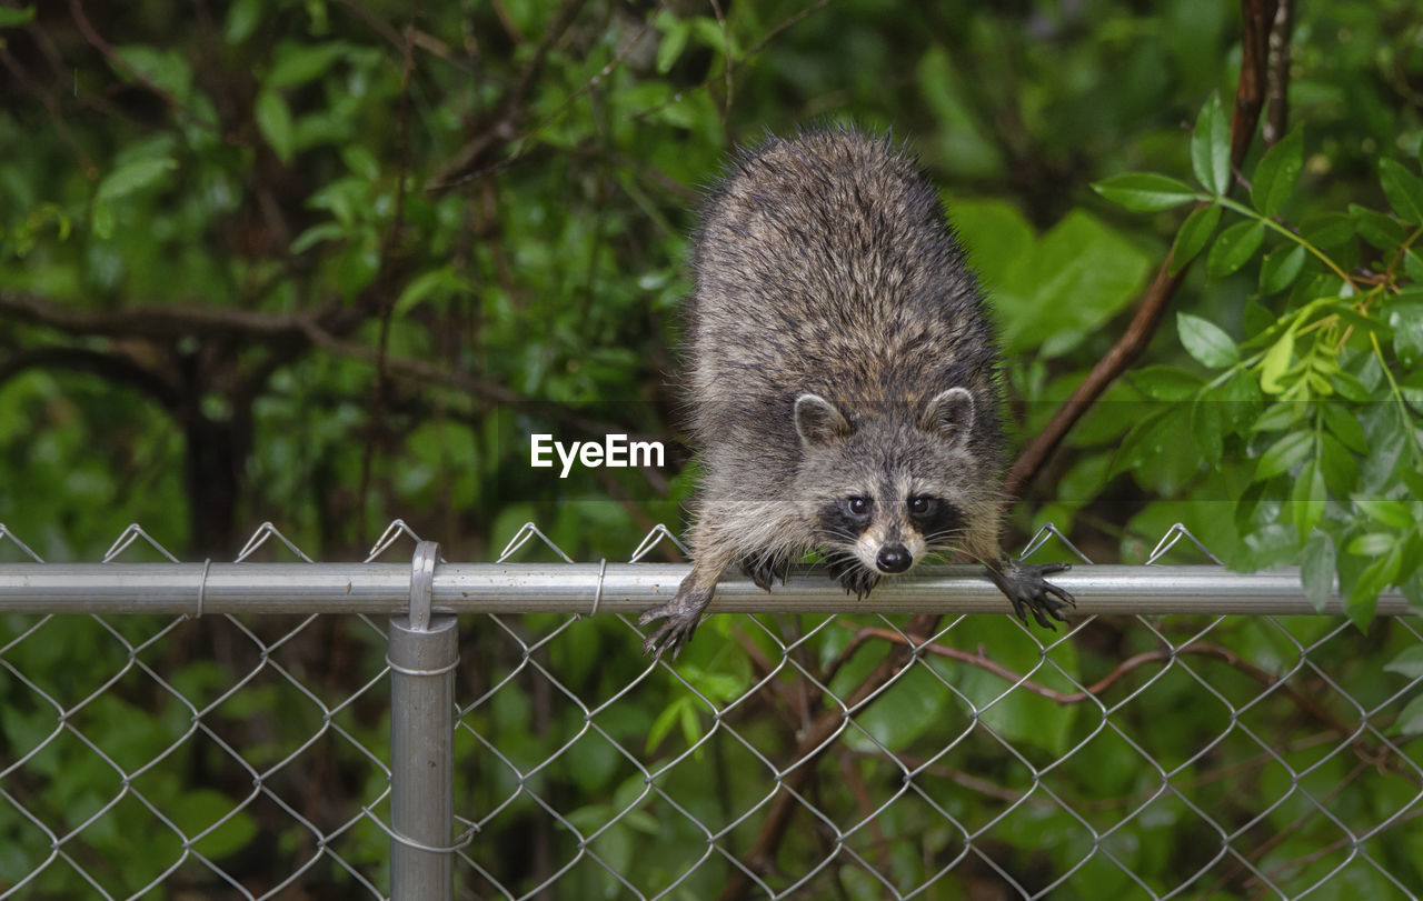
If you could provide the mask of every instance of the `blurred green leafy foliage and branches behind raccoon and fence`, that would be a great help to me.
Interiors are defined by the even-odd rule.
[[[1225,146],[1239,10],[1227,3],[413,9],[0,9],[0,523],[46,560],[92,560],[131,522],[196,559],[231,557],[263,520],[317,560],[351,559],[396,516],[455,560],[490,559],[527,520],[575,559],[625,557],[653,523],[679,522],[694,482],[684,449],[673,445],[660,472],[561,482],[527,466],[524,435],[675,442],[677,307],[699,189],[764,129],[854,121],[891,128],[942,185],[992,290],[1020,442],[1111,348],[1173,247],[1177,267],[1201,257],[1138,367],[1029,486],[1019,533],[1050,520],[1099,561],[1138,561],[1183,522],[1231,566],[1302,563],[1319,603],[1338,577],[1360,630],[1386,587],[1423,605],[1423,24],[1412,3],[1301,4],[1285,70],[1291,129],[1268,152],[1257,139],[1239,173]],[[0,543],[0,560],[18,559]],[[80,685],[97,686],[115,655],[129,655],[88,621],[16,638],[33,627],[7,618],[0,659],[53,696],[83,698]],[[731,628],[714,621],[689,652],[689,679],[713,701],[757,678],[723,638]],[[996,628],[976,641],[1012,661],[1020,634]],[[1056,664],[1089,678],[1103,672],[1089,651],[1111,661],[1154,647],[1150,635],[1100,628],[1110,641],[1081,659],[1060,647]],[[1305,644],[1325,634],[1291,628]],[[1251,659],[1281,659],[1279,632],[1221,631]],[[844,641],[827,635],[822,667]],[[205,638],[179,630],[169,641],[185,694],[222,684],[201,659]],[[1416,651],[1410,634],[1375,627],[1360,641],[1368,652],[1342,652],[1333,678],[1387,696],[1423,675],[1406,652]],[[379,665],[369,635],[340,642]],[[61,676],[43,649],[57,644],[75,651]],[[581,624],[562,648],[555,662],[589,696],[640,668],[622,628]],[[490,661],[478,678],[497,684],[504,662]],[[871,664],[840,669],[834,688]],[[935,665],[973,698],[1005,688],[970,667]],[[54,711],[14,679],[0,685],[10,760],[53,728]],[[222,718],[296,729],[290,686],[265,691],[268,703]],[[1198,686],[1183,678],[1168,694],[1160,703],[1177,705],[1181,745],[1211,733],[1218,706]],[[1423,730],[1416,694],[1386,711],[1396,735]],[[499,698],[482,729],[519,736],[511,740],[529,743],[529,760],[558,746],[558,723],[522,735],[511,723],[527,709]],[[138,709],[172,736],[185,729],[171,698],[138,686],[102,703],[128,706],[95,716],[101,732]],[[956,703],[936,682],[898,686],[869,728],[895,750],[932,746],[904,723],[935,722]],[[1053,753],[1087,740],[1073,711],[1023,692],[990,708],[1002,735]],[[608,728],[630,748],[677,753],[667,743],[697,742],[709,713],[667,692]],[[1271,722],[1285,735],[1303,728],[1288,709]],[[349,728],[369,746],[383,742],[379,721]],[[788,740],[773,725],[756,729],[767,745]],[[1086,796],[1157,779],[1120,742],[1097,743],[1096,759],[1120,766],[1076,765]],[[329,753],[351,757],[340,743]],[[616,760],[595,765],[599,753],[546,779],[603,792],[620,809],[626,794],[608,793],[630,790],[620,782],[630,776]],[[94,804],[80,789],[91,779],[101,797],[112,772],[78,746],[46,760],[80,800],[28,803],[83,821]],[[1313,772],[1328,782],[1346,763]],[[370,779],[353,769],[344,784]],[[501,787],[471,790],[494,803]],[[1358,803],[1393,810],[1416,789],[1385,779]],[[176,779],[149,792],[199,826],[231,809],[222,792]],[[1211,789],[1200,792],[1190,797],[1207,803]],[[956,816],[975,820],[983,806],[965,800]],[[601,816],[595,804],[579,811]],[[1296,813],[1285,804],[1274,816],[1284,827]],[[1030,860],[1066,829],[1060,810],[1037,817],[1023,813],[1000,836],[1006,860]],[[250,847],[263,820],[243,810],[226,823],[208,840],[213,857]],[[636,816],[619,823],[605,833],[622,843],[605,848],[610,858],[657,831]],[[887,823],[922,829],[912,816]],[[3,888],[44,841],[6,809],[0,836]],[[1296,860],[1332,837],[1296,831],[1272,854]],[[85,841],[124,848],[132,873],[111,874],[122,891],[174,853],[117,830]],[[381,834],[360,841],[380,860]],[[1171,830],[1136,841],[1116,853],[1153,885],[1170,890],[1190,870]],[[1069,868],[1081,848],[1064,843],[1050,868]],[[1405,884],[1423,888],[1416,840],[1387,854]],[[933,873],[909,857],[904,887]],[[1131,885],[1120,868],[1093,864],[1091,875],[1084,897]],[[851,895],[874,895],[861,877],[837,878]],[[47,878],[43,891],[61,897],[73,873]],[[610,891],[605,874],[579,878],[589,892]],[[1302,867],[1299,878],[1313,877]],[[1349,878],[1365,894],[1386,888],[1366,870]]]

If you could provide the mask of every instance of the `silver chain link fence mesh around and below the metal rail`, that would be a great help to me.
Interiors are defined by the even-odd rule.
[[[1057,632],[972,615],[1006,604],[965,567],[798,573],[652,661],[660,541],[182,564],[135,526],[44,564],[0,526],[0,897],[1423,894],[1397,594],[1360,631],[1175,527],[1064,574]]]

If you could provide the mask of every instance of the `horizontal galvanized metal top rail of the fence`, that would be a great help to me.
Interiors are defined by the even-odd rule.
[[[437,613],[636,613],[672,597],[687,564],[444,563],[434,573]],[[50,563],[0,564],[0,613],[393,614],[410,604],[410,564],[397,563]],[[1080,614],[1312,614],[1296,570],[1232,573],[1215,566],[1076,566],[1053,581]],[[201,608],[199,608],[201,591]],[[1005,613],[978,567],[929,567],[847,595],[824,570],[797,570],[767,594],[729,577],[712,613]],[[1333,598],[1326,613],[1343,607]],[[1379,614],[1403,615],[1397,590]]]

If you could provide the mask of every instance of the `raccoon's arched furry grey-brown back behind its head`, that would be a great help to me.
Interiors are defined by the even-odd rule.
[[[867,412],[963,387],[972,455],[996,482],[988,314],[936,193],[888,136],[818,129],[743,152],[696,239],[687,389],[704,495],[731,476],[743,500],[788,489],[803,392]]]

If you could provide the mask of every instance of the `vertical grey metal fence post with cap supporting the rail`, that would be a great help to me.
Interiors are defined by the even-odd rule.
[[[410,613],[390,618],[390,897],[448,901],[454,892],[455,617],[431,615],[440,544],[420,541]]]

